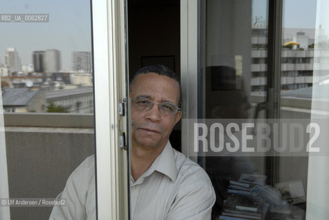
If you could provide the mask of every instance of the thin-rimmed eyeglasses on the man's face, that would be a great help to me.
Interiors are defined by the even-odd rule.
[[[152,109],[153,104],[158,104],[159,111],[164,115],[174,115],[177,113],[178,110],[180,110],[180,108],[178,108],[176,104],[173,104],[171,102],[156,103],[152,102],[147,98],[136,98],[131,100],[131,102],[133,102],[134,107],[143,111],[148,111],[149,109]]]

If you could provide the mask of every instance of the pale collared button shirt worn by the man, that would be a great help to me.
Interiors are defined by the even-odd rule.
[[[54,206],[50,219],[96,219],[94,157],[69,177],[59,195],[67,206]],[[131,219],[211,219],[215,192],[206,172],[168,142],[136,181],[130,177]]]

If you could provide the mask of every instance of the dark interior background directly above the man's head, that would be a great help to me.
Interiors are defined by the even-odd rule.
[[[173,56],[180,74],[180,1],[129,0],[128,30],[130,76],[145,56]]]

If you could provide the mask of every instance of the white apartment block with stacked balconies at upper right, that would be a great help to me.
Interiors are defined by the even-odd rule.
[[[329,67],[317,67],[321,78],[314,79],[313,64],[329,61],[329,50],[321,50],[321,57],[314,53],[315,29],[283,28],[281,52],[281,89],[301,89],[319,83],[328,76]],[[320,32],[321,33],[321,32]],[[322,33],[322,41],[328,37]],[[251,94],[264,95],[267,87],[267,28],[253,28],[251,51]]]

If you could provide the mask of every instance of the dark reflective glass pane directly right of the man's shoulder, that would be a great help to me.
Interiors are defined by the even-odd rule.
[[[266,118],[268,107],[268,3],[267,1],[206,1],[206,58],[204,115],[209,130],[209,152],[205,153],[205,168],[216,192],[212,219],[217,219],[228,206],[241,198],[233,197],[238,182],[246,175],[266,177],[264,154],[247,156],[232,153],[223,145],[215,153],[211,144],[220,146],[229,140],[225,131],[229,123],[254,122]],[[213,139],[213,124],[219,123]],[[219,125],[217,124],[217,125]],[[237,135],[239,132],[233,132]],[[241,138],[240,142],[241,148]],[[213,143],[214,142],[214,143]],[[200,142],[199,142],[200,143]],[[253,146],[253,144],[248,144]],[[215,148],[212,148],[215,150]],[[240,156],[239,156],[240,155]],[[264,179],[259,179],[264,182]],[[233,188],[231,188],[233,187]],[[229,190],[229,191],[228,191]],[[224,201],[227,203],[224,204]],[[262,214],[262,213],[261,213]],[[231,216],[227,214],[227,216]],[[241,217],[241,216],[240,216]]]

